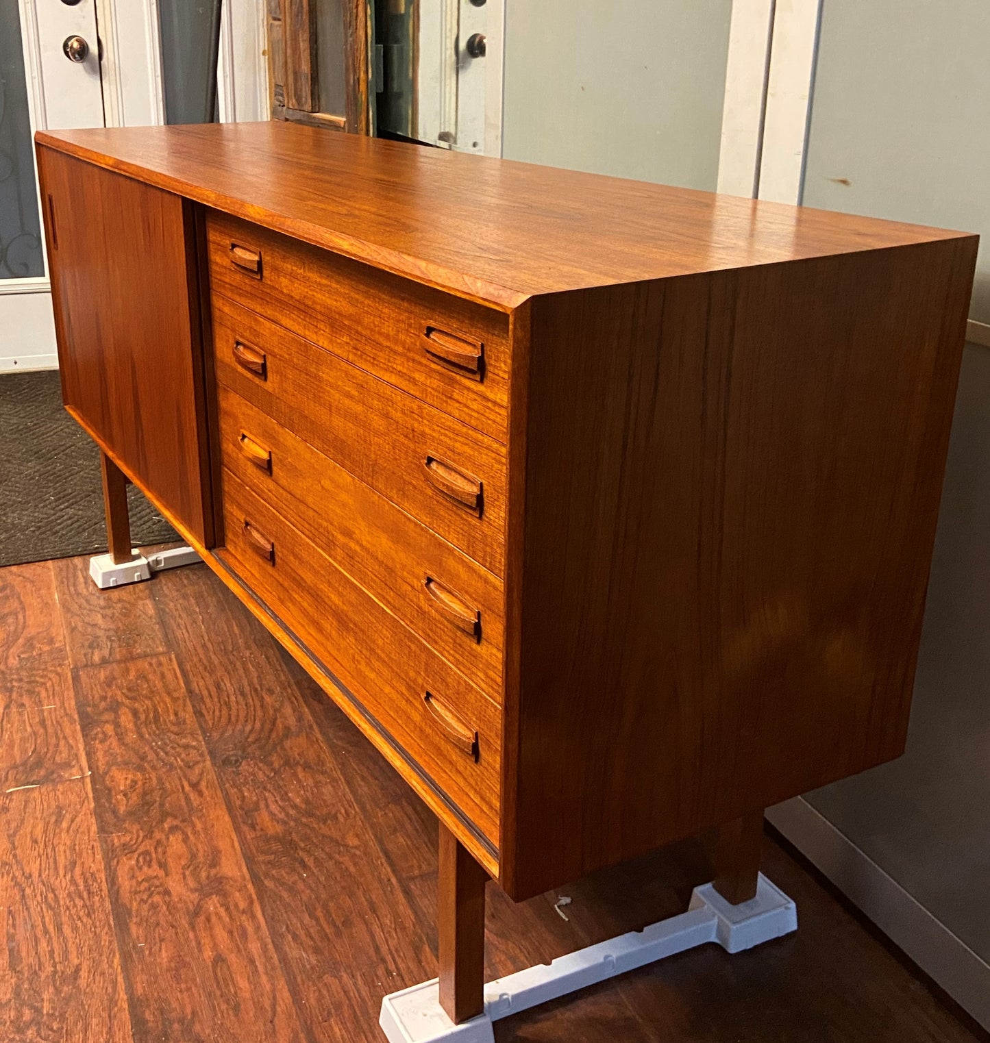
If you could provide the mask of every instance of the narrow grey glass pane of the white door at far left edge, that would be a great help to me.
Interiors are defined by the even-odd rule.
[[[17,0],[0,0],[0,278],[45,274]]]

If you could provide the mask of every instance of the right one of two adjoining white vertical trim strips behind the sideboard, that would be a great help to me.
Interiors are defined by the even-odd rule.
[[[777,0],[757,197],[800,203],[822,0]]]

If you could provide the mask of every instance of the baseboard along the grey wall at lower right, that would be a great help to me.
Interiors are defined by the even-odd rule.
[[[767,820],[984,1028],[990,1029],[990,965],[801,797]],[[946,866],[946,872],[951,867]]]

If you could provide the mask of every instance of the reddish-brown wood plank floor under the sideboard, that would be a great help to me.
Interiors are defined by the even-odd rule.
[[[436,822],[204,566],[100,592],[0,569],[0,1040],[380,1041],[432,977]],[[684,907],[684,845],[512,905],[489,977]],[[666,960],[501,1022],[500,1041],[983,1038],[784,850],[800,929]]]

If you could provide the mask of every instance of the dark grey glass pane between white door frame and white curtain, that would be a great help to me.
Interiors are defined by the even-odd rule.
[[[166,123],[212,123],[216,118],[214,19],[220,0],[159,0]]]

